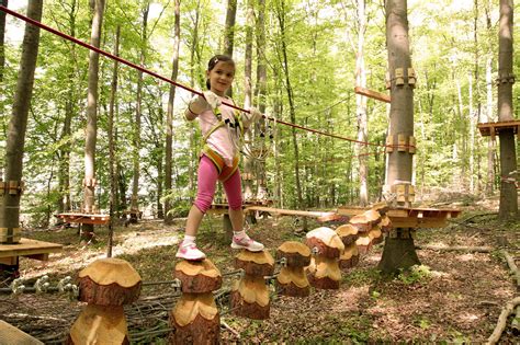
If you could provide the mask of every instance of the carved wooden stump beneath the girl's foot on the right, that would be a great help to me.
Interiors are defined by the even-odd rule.
[[[231,310],[239,317],[268,319],[271,304],[264,276],[274,273],[274,258],[267,251],[242,250],[235,257],[235,267],[244,269],[245,274],[233,287]]]

